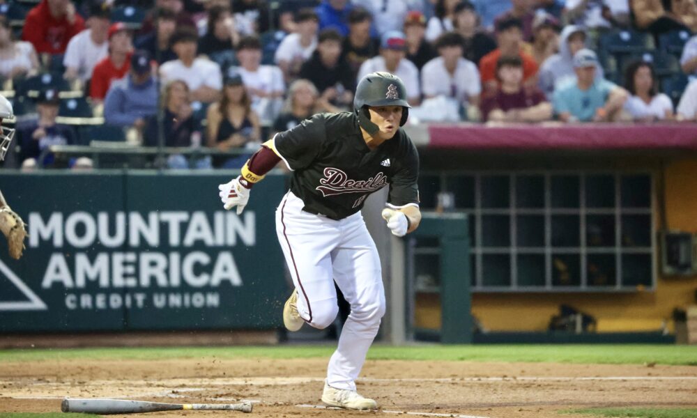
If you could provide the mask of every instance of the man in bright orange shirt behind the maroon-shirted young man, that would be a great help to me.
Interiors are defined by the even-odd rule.
[[[523,61],[523,84],[535,86],[537,83],[537,63],[532,56],[521,50],[523,23],[519,19],[501,20],[496,26],[496,39],[498,48],[482,56],[480,61],[482,92],[488,94],[498,88],[496,63],[501,56],[519,56]]]

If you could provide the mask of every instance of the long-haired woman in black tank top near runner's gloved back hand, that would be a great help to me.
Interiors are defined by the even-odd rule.
[[[208,107],[208,139],[210,148],[222,151],[233,148],[248,148],[250,153],[237,157],[214,158],[216,167],[238,169],[259,146],[261,124],[259,116],[252,110],[252,100],[245,89],[240,75],[225,79],[222,98]]]

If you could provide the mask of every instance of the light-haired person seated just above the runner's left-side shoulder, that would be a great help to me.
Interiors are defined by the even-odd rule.
[[[288,98],[283,104],[281,114],[273,123],[275,132],[283,132],[298,123],[321,112],[340,111],[325,98],[319,96],[317,88],[307,79],[298,79],[288,88]]]

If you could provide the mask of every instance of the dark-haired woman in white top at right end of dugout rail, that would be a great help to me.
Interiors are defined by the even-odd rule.
[[[668,95],[658,93],[656,73],[650,63],[631,63],[625,72],[625,88],[631,94],[625,102],[625,110],[635,121],[675,119],[673,102]]]

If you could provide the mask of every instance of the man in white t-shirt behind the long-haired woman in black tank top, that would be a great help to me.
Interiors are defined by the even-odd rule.
[[[283,106],[283,72],[276,65],[261,65],[261,42],[256,36],[245,36],[237,44],[238,72],[252,98],[252,109],[259,115],[261,125],[272,125]]]

